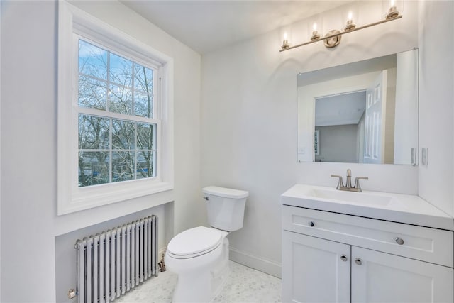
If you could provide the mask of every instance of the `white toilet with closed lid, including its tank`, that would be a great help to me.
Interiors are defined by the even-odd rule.
[[[210,228],[182,231],[170,241],[165,266],[178,275],[172,302],[210,302],[221,292],[228,277],[228,239],[243,228],[248,192],[224,187],[205,187],[204,199]]]

